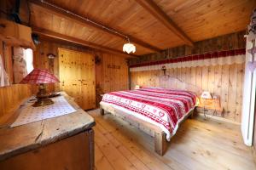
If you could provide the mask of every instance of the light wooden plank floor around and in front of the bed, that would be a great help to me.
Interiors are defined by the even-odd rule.
[[[154,139],[110,114],[88,111],[96,120],[96,169],[256,169],[240,127],[201,116],[188,119],[169,143],[165,156],[154,153]]]

